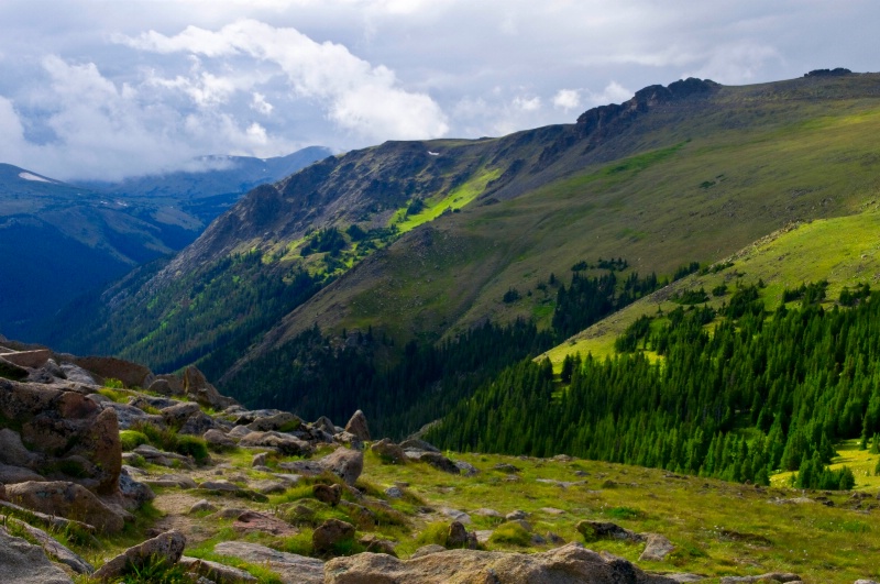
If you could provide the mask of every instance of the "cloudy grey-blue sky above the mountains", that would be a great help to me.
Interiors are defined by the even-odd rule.
[[[688,76],[880,70],[878,22],[876,0],[2,0],[0,162],[117,179],[502,135]]]

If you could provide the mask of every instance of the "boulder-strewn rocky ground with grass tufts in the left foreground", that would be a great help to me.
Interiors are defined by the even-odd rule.
[[[286,411],[248,410],[195,367],[157,376],[114,359],[0,342],[2,581],[148,582],[138,574],[162,562],[202,584],[717,582],[649,573],[540,535],[520,510],[472,511],[497,518],[497,529],[470,531],[468,514],[430,508],[406,484],[376,491],[359,480],[365,452],[449,475],[474,474],[473,465],[419,440],[371,440],[361,412],[342,428],[327,418],[305,422]],[[517,469],[501,466],[515,482]],[[402,502],[418,521],[399,510]],[[675,550],[660,533],[574,522],[585,542],[642,547],[639,563],[662,562]],[[425,529],[425,544],[398,558],[399,538],[388,533],[415,529]],[[113,546],[139,533],[136,546]],[[502,536],[557,547],[531,554],[484,550],[506,541]],[[72,548],[88,550],[90,560]],[[785,572],[721,579],[800,581]]]

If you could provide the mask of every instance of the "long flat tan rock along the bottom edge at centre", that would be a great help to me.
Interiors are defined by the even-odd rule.
[[[361,553],[327,562],[327,584],[501,583],[517,584],[671,584],[664,576],[646,574],[630,562],[606,558],[570,543],[543,553],[521,554],[451,550],[407,561]]]

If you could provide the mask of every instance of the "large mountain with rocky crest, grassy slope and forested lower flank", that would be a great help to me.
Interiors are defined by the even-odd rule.
[[[166,266],[72,309],[80,327],[53,341],[163,371],[198,362],[249,403],[421,408],[398,420],[404,431],[484,378],[493,335],[509,339],[506,359],[534,356],[624,304],[573,297],[601,286],[575,282],[575,266],[616,258],[619,283],[637,274],[631,301],[793,221],[859,211],[880,163],[878,98],[877,74],[688,79],[573,124],[328,158],[254,189]],[[504,329],[517,319],[534,329]],[[431,351],[461,361],[468,346],[485,357],[470,381],[443,377]],[[431,374],[394,368],[422,357]]]

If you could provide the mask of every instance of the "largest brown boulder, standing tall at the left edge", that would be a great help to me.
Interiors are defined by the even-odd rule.
[[[99,494],[113,494],[122,469],[116,411],[67,389],[0,379],[0,416],[20,423],[21,442],[36,452],[28,466],[37,470],[38,464],[46,474],[69,476]],[[14,436],[4,436],[15,442]],[[25,456],[18,444],[15,455]]]

